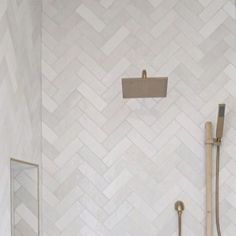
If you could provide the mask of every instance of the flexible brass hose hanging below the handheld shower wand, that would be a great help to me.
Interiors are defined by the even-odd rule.
[[[216,208],[216,230],[217,235],[221,236],[220,230],[220,200],[219,200],[219,188],[220,188],[220,145],[217,145],[216,151],[216,186],[215,186],[215,208]]]

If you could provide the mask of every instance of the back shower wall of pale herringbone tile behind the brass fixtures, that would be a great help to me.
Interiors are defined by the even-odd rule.
[[[236,23],[227,0],[45,0],[44,236],[204,235],[204,123],[227,103],[223,235],[236,232]],[[121,78],[168,76],[163,99]]]

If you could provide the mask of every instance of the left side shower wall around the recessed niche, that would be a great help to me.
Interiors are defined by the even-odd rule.
[[[0,235],[10,236],[10,158],[41,159],[41,2],[0,1]]]

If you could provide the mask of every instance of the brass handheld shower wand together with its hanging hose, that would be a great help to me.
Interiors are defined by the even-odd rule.
[[[219,188],[220,188],[220,145],[221,139],[223,137],[224,129],[224,118],[225,118],[225,104],[219,104],[218,116],[217,116],[217,126],[216,126],[216,139],[214,143],[216,144],[216,182],[215,182],[215,212],[216,212],[216,230],[218,236],[221,236],[220,229],[220,200],[219,200]]]

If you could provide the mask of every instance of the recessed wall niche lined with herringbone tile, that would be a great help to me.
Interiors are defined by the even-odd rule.
[[[12,168],[12,236],[38,236],[39,194],[37,167],[15,163]]]

